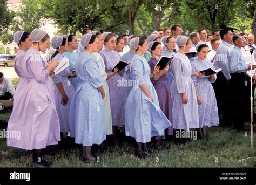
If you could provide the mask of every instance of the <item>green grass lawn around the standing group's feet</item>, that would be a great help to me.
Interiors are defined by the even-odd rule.
[[[55,152],[53,148],[56,147],[51,147],[44,157],[53,162],[51,167],[255,167],[255,155],[239,161],[250,157],[249,128],[247,124],[246,137],[233,128],[212,127],[208,129],[207,141],[196,140],[186,145],[165,141],[164,145],[170,149],[161,151],[154,150],[150,144],[152,157],[146,159],[134,155],[135,148],[130,142],[108,147],[97,155],[101,162],[96,164],[85,164],[80,160],[80,146],[57,148]],[[4,129],[3,126],[0,129]],[[25,150],[7,147],[6,138],[0,138],[0,148],[0,167],[30,167],[32,156]]]

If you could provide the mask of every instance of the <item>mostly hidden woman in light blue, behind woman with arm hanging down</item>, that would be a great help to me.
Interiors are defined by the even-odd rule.
[[[77,37],[75,35],[64,35],[63,37],[68,40],[68,45],[69,45],[69,50],[65,52],[63,55],[69,59],[69,70],[72,72],[76,70],[75,66],[76,66],[76,61],[78,59],[77,53],[74,52],[78,48]],[[69,80],[76,90],[77,77],[69,78]]]

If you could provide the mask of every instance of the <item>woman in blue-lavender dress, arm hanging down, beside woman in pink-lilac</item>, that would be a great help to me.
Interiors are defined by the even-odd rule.
[[[63,53],[68,51],[69,48],[66,39],[63,37],[52,37],[51,45],[56,49],[56,52],[58,53],[52,59],[52,61],[60,61],[64,57]],[[70,136],[69,111],[70,103],[72,101],[73,95],[75,94],[75,89],[70,83],[68,77],[75,77],[75,73],[70,72],[69,67],[65,68],[65,70],[62,72],[51,76],[55,83],[55,102],[59,116],[60,132],[62,132],[62,141],[63,133],[68,133],[68,136]]]

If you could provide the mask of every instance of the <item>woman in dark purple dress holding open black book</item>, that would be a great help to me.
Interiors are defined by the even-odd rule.
[[[149,60],[149,66],[151,68],[151,74],[153,74],[154,66],[157,65],[158,57],[162,55],[163,49],[161,47],[161,43],[153,41],[149,43],[148,51],[151,52],[151,59]],[[159,106],[161,111],[164,112],[166,118],[171,122],[172,117],[172,107],[171,107],[171,92],[170,86],[167,83],[168,75],[167,72],[169,70],[169,65],[167,65],[164,70],[160,70],[156,75],[151,78],[152,84],[157,92],[157,97],[159,101]],[[173,135],[172,126],[170,126],[166,130],[167,135]],[[157,149],[162,149],[160,140],[165,139],[164,136],[156,137],[156,147]]]

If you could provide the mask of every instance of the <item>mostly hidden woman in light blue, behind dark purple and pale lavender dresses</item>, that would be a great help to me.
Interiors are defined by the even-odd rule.
[[[172,36],[164,36],[162,38],[162,42],[165,45],[165,50],[163,51],[164,57],[170,57],[172,55],[176,55],[176,52],[173,52],[173,49],[175,49],[176,46],[176,39]],[[170,66],[168,70],[168,84],[169,86],[172,84],[172,81],[174,80],[172,68]]]

